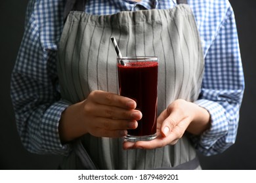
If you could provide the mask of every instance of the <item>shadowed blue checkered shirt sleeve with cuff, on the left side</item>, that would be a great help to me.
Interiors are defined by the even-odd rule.
[[[62,1],[42,7],[29,1],[26,27],[12,71],[11,97],[21,141],[30,152],[66,154],[58,135],[58,121],[70,104],[60,99],[56,50],[62,25]],[[51,15],[51,16],[49,16]],[[60,16],[58,16],[60,15]]]

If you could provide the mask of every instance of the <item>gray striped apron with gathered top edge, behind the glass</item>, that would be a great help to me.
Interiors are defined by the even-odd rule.
[[[62,99],[77,103],[93,90],[118,93],[113,36],[123,56],[160,58],[158,115],[175,99],[198,99],[203,53],[188,5],[97,16],[83,12],[84,2],[71,3],[78,8],[68,14],[60,39],[57,69]],[[72,144],[60,168],[200,169],[186,133],[177,144],[154,150],[123,150],[122,143],[123,139],[86,134]]]

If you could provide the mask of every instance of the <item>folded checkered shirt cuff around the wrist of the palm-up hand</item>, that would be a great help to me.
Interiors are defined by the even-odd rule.
[[[219,103],[206,99],[199,99],[194,103],[205,108],[211,116],[211,127],[199,137],[192,137],[192,140],[196,142],[196,148],[206,156],[222,152],[222,148],[219,150],[213,149],[213,146],[222,146],[221,144],[218,144],[217,141],[223,139],[228,133],[226,110]]]

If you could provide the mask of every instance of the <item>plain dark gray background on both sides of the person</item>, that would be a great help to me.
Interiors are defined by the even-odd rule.
[[[215,0],[211,0],[215,1]],[[0,1],[0,169],[56,169],[61,157],[41,156],[22,146],[10,98],[10,76],[22,34],[28,0]],[[230,0],[234,8],[245,73],[236,144],[223,154],[200,156],[203,169],[256,169],[256,2]]]

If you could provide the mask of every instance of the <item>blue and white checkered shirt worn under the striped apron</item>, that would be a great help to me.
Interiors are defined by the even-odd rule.
[[[58,122],[70,105],[60,99],[56,52],[63,28],[65,0],[30,0],[26,27],[11,78],[11,97],[22,143],[37,154],[67,154]],[[211,114],[211,128],[192,137],[195,147],[209,156],[234,144],[244,93],[234,12],[228,0],[190,0],[202,40],[205,75],[196,101]],[[174,0],[88,1],[85,12],[114,14],[123,10],[173,8]]]

